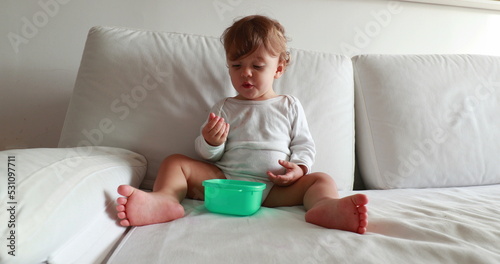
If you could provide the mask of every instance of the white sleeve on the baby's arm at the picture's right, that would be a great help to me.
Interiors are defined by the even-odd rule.
[[[316,147],[311,132],[309,131],[306,114],[297,99],[295,99],[292,110],[295,113],[292,113],[292,118],[294,119],[292,122],[292,137],[290,142],[290,161],[297,165],[306,166],[307,173],[310,173],[316,155]]]

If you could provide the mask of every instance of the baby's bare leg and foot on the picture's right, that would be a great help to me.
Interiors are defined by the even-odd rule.
[[[288,187],[274,186],[264,206],[293,206],[303,204],[307,222],[326,228],[363,234],[368,225],[364,194],[339,198],[335,181],[324,173],[303,176]]]

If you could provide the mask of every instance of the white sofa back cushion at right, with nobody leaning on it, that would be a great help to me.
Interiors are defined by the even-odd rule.
[[[353,65],[367,187],[500,183],[500,57],[360,55]]]

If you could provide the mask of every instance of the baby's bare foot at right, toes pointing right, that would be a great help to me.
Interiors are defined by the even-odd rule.
[[[306,221],[326,228],[364,234],[368,226],[367,203],[368,198],[364,194],[325,199],[307,211]]]

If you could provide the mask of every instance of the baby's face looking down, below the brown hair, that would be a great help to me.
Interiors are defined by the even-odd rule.
[[[278,56],[272,56],[261,46],[250,55],[228,61],[229,76],[240,100],[266,100],[276,97],[274,79],[284,70]]]

